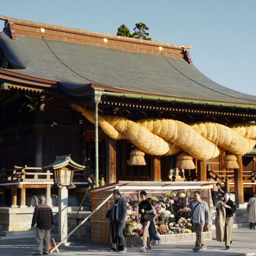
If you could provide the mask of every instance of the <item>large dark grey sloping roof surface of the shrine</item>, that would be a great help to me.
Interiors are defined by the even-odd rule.
[[[94,83],[109,91],[256,104],[255,96],[215,83],[184,59],[21,35],[12,41],[4,32],[0,44],[9,61],[23,68],[15,72],[59,81],[65,91]]]

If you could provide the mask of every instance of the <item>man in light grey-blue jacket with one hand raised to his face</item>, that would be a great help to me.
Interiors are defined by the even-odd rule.
[[[204,237],[202,236],[202,231],[211,225],[211,214],[208,208],[207,202],[201,200],[200,192],[194,192],[194,200],[188,201],[189,192],[185,197],[185,204],[189,205],[191,208],[192,216],[191,220],[193,222],[193,227],[195,234],[197,235],[197,240],[195,241],[195,247],[193,251],[201,251],[207,249]]]

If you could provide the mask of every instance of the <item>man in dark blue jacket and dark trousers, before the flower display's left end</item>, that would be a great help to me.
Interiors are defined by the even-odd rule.
[[[112,228],[114,230],[111,231],[112,235],[112,248],[109,251],[118,251],[125,252],[127,251],[127,246],[124,238],[124,224],[127,215],[127,203],[124,198],[120,194],[119,189],[114,189],[112,195],[115,199],[112,210],[109,214],[109,221],[112,222]],[[115,248],[115,244],[118,241],[118,248]],[[115,250],[116,249],[116,250]]]

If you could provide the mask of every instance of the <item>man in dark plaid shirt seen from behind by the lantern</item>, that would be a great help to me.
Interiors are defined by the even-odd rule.
[[[49,205],[45,204],[45,197],[39,198],[39,205],[35,207],[32,227],[36,224],[36,252],[33,255],[48,254],[51,229],[54,228],[54,215]],[[44,250],[42,249],[44,245]]]

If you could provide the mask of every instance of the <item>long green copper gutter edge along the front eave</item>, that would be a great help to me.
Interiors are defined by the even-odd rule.
[[[162,102],[176,102],[176,103],[185,103],[185,104],[200,104],[207,105],[209,107],[227,107],[227,108],[247,108],[247,109],[256,109],[254,105],[244,105],[244,104],[233,104],[233,103],[224,103],[224,102],[210,102],[210,101],[200,101],[198,99],[177,99],[169,97],[157,97],[157,96],[146,96],[141,94],[119,94],[118,92],[103,92],[104,95],[117,97],[117,98],[130,98],[130,99],[144,99],[151,101],[162,101]]]

